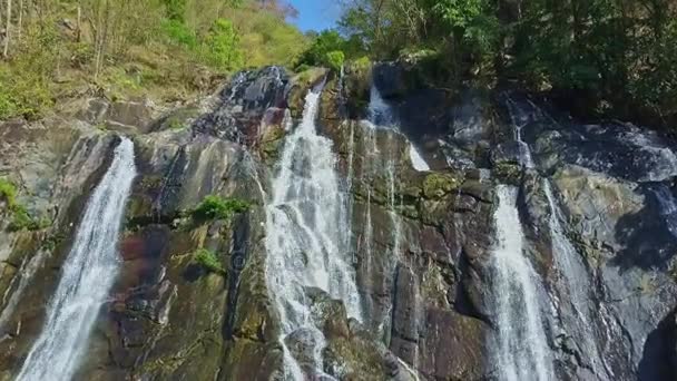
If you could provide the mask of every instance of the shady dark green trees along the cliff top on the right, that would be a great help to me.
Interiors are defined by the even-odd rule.
[[[674,1],[352,0],[338,30],[317,48],[376,60],[436,52],[440,87],[517,79],[575,110],[677,124]]]

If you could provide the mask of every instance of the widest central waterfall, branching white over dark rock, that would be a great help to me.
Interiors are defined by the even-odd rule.
[[[266,201],[266,284],[279,314],[285,379],[303,380],[286,339],[308,341],[313,370],[322,374],[325,339],[308,289],[342,300],[349,316],[362,319],[354,270],[349,263],[347,195],[335,170],[332,140],[320,136],[315,119],[320,92],[308,91],[301,125],[285,140],[272,195]]]

